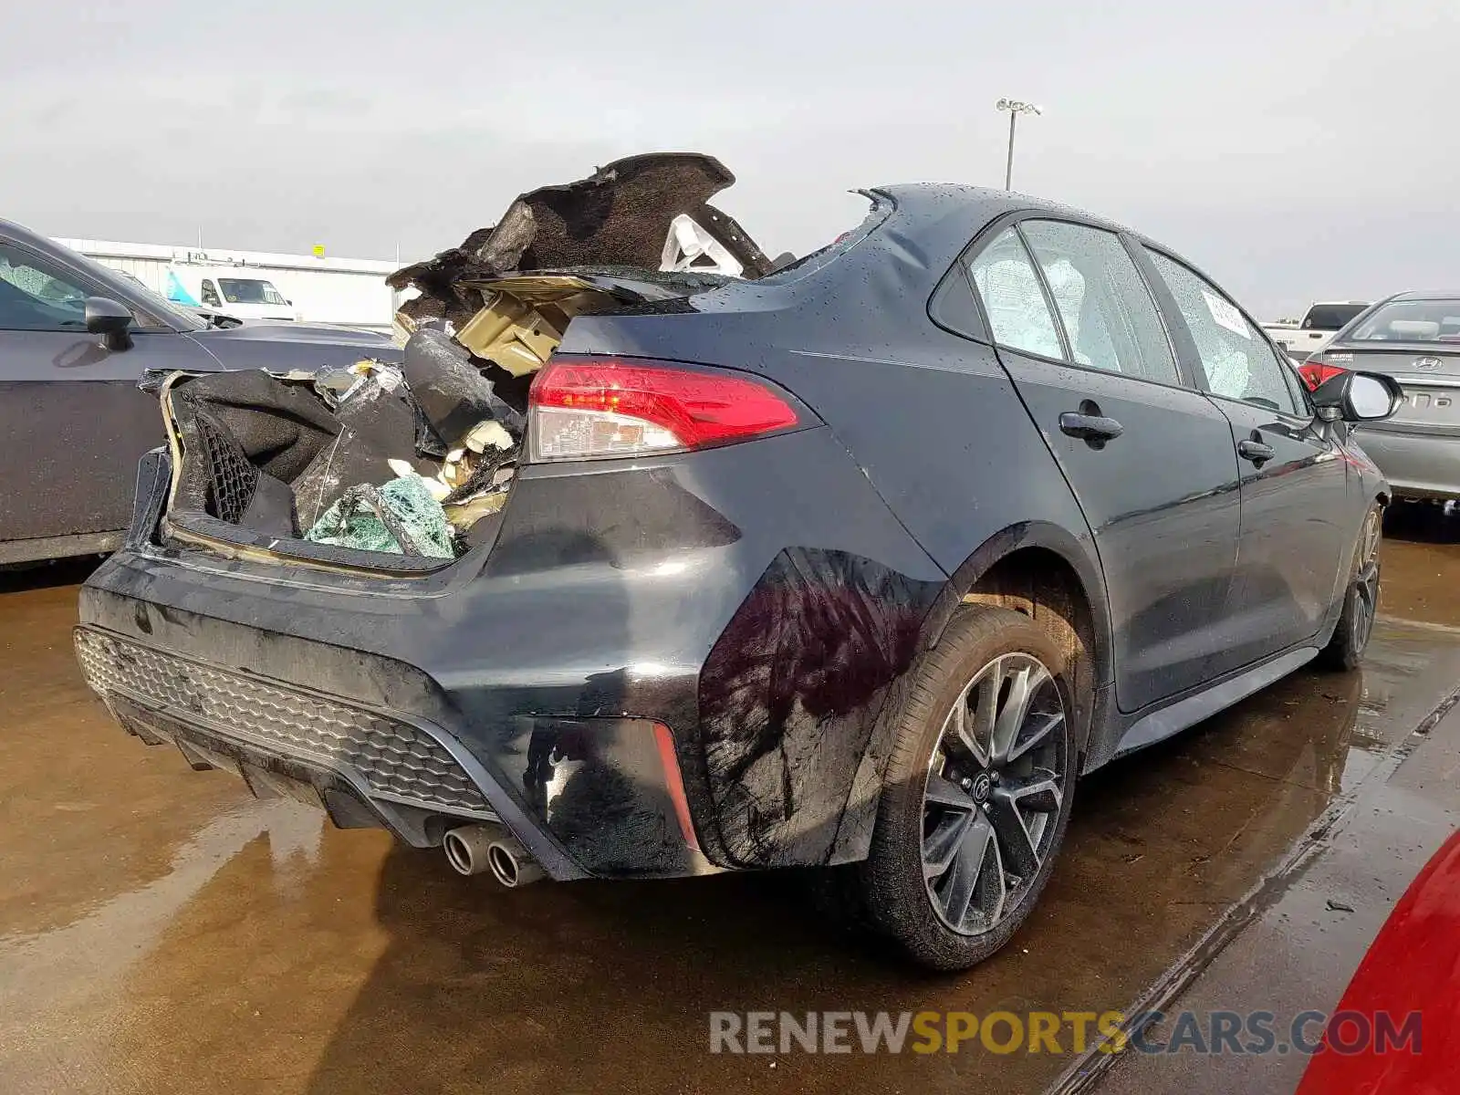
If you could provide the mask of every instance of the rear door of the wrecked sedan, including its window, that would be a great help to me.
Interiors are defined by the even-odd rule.
[[[1095,536],[1123,711],[1203,683],[1226,642],[1237,458],[1121,238],[1026,218],[968,264],[1000,362]]]

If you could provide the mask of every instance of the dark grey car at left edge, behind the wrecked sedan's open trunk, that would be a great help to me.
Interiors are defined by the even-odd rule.
[[[164,439],[146,369],[286,371],[399,361],[385,336],[301,324],[218,328],[140,282],[0,220],[0,565],[105,552],[137,458]]]

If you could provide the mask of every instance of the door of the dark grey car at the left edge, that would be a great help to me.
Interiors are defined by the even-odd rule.
[[[99,282],[0,235],[0,562],[102,550],[131,515],[137,460],[164,441],[146,368],[216,368],[134,310],[131,347],[86,331]],[[29,542],[29,543],[18,543]]]

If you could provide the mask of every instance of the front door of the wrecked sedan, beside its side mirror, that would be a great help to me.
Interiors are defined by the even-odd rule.
[[[1339,566],[1356,529],[1348,466],[1334,428],[1261,328],[1210,280],[1149,250],[1180,318],[1183,352],[1232,423],[1241,466],[1241,539],[1229,613],[1235,669],[1311,638],[1333,604]]]

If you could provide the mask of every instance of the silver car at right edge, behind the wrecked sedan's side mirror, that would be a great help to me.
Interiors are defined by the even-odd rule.
[[[1460,498],[1460,291],[1405,292],[1371,305],[1302,372],[1313,384],[1340,369],[1383,372],[1405,388],[1391,419],[1359,431],[1394,493]]]

